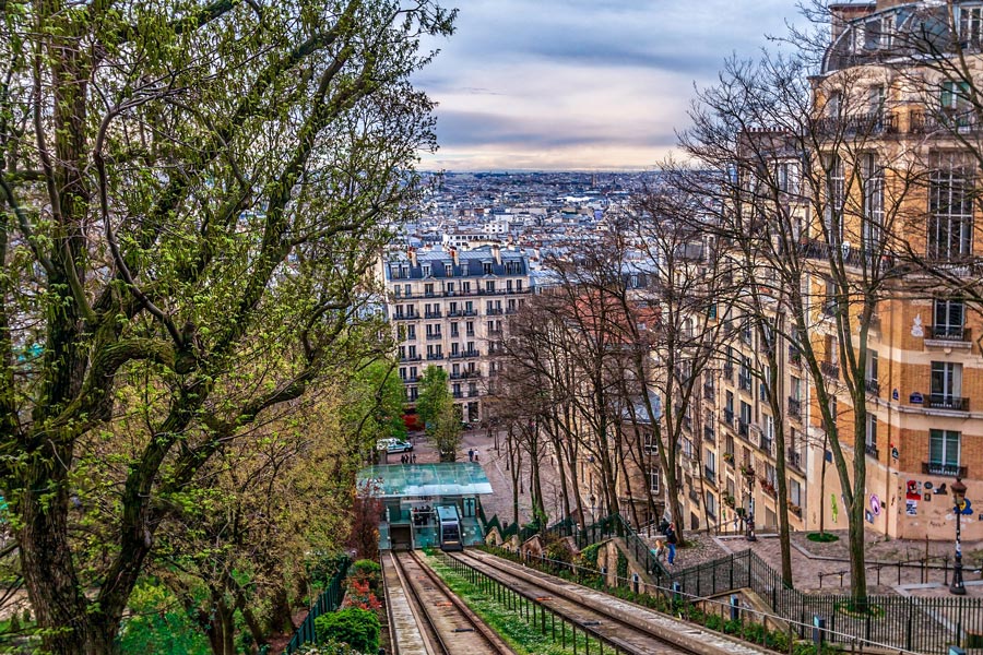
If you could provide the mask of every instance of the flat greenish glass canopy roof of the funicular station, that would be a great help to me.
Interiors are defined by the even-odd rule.
[[[379,486],[381,498],[492,493],[485,472],[471,462],[368,466],[358,472],[358,485],[369,480]]]

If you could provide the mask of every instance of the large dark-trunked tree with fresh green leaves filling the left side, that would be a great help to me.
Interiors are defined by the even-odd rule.
[[[114,652],[202,471],[364,360],[366,272],[434,145],[408,79],[452,19],[436,0],[2,12],[0,488],[46,651]]]

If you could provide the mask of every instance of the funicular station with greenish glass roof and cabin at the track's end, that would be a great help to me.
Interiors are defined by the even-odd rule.
[[[387,464],[358,472],[359,488],[382,500],[381,550],[460,550],[483,541],[477,512],[492,484],[478,464]]]

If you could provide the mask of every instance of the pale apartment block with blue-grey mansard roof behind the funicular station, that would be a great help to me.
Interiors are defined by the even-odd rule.
[[[416,401],[424,369],[436,366],[448,373],[462,419],[481,421],[495,372],[490,356],[531,291],[525,255],[499,246],[410,248],[388,254],[381,269],[407,404]]]

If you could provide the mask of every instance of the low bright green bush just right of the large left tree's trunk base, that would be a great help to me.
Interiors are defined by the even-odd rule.
[[[131,616],[120,630],[120,653],[209,655],[209,640],[166,586],[155,582],[137,585],[130,596]]]

